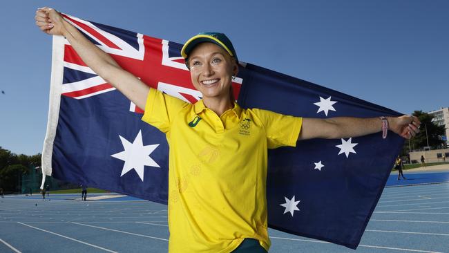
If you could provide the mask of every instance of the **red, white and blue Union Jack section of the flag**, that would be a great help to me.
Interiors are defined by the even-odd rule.
[[[90,41],[111,55],[122,68],[133,73],[145,84],[187,102],[194,103],[201,99],[202,95],[191,84],[189,70],[180,55],[182,45],[69,15],[64,17]],[[242,84],[240,78],[233,82],[235,97],[238,97],[240,84]],[[83,99],[113,90],[115,88],[111,84],[86,66],[66,41],[61,95]],[[143,112],[132,102],[130,111]]]

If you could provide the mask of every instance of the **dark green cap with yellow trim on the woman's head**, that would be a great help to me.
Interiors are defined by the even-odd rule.
[[[220,32],[201,32],[198,35],[191,37],[186,42],[186,44],[182,46],[181,49],[182,57],[184,57],[184,59],[187,60],[193,48],[195,48],[195,46],[197,46],[202,42],[211,42],[213,44],[216,44],[217,46],[220,46],[221,48],[225,49],[227,53],[229,53],[229,55],[234,57],[234,59],[236,59],[236,62],[238,63],[236,50],[234,50],[231,40],[229,40],[229,38],[224,33]]]

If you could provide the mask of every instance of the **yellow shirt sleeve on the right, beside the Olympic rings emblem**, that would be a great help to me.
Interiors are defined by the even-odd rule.
[[[303,118],[261,109],[253,109],[253,111],[265,127],[269,149],[283,146],[296,147]]]

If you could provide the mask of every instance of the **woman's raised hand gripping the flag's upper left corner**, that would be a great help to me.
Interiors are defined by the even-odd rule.
[[[48,35],[64,35],[64,18],[55,9],[44,7],[36,11],[36,26]]]

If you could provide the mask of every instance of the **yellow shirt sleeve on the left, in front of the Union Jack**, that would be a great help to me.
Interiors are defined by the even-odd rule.
[[[189,103],[176,97],[150,88],[146,97],[145,112],[142,120],[160,131],[167,133],[176,114]]]

